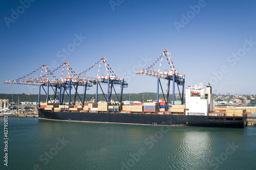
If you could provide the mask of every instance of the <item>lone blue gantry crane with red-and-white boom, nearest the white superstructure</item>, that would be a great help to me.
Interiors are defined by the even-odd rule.
[[[160,71],[161,64],[163,61],[164,56],[167,59],[169,68],[171,71]],[[160,61],[159,69],[158,71],[154,71],[154,66]],[[163,88],[160,82],[160,79],[166,79],[168,81],[167,83],[167,95],[166,99],[163,93],[163,98],[165,105],[168,106],[169,103],[169,89],[170,89],[170,81],[173,81],[173,105],[175,104],[175,83],[178,86],[179,90],[179,95],[181,99],[181,104],[183,105],[183,98],[184,98],[184,84],[185,84],[185,75],[184,74],[179,74],[178,71],[176,71],[171,55],[169,50],[164,50],[163,53],[146,69],[140,68],[139,71],[137,72],[139,75],[146,75],[146,76],[152,76],[157,78],[157,102],[159,101],[159,85],[161,87],[162,93],[163,93]],[[179,86],[182,86],[182,94],[180,93],[180,88]]]

